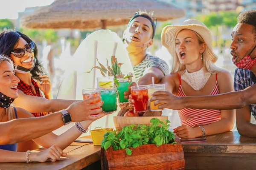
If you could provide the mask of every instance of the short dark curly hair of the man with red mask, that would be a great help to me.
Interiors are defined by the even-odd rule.
[[[249,24],[254,27],[254,34],[256,39],[256,9],[245,11],[237,17],[237,23]]]

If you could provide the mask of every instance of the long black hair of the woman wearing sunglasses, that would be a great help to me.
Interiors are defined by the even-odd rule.
[[[32,40],[26,36],[25,34],[22,34],[20,31],[14,31],[12,29],[9,29],[7,31],[3,31],[0,34],[0,54],[5,54],[10,57],[11,51],[15,48],[16,43],[20,40],[20,37],[22,37],[27,43],[32,42]],[[38,49],[35,45],[34,50],[34,57],[37,59],[38,55]],[[33,79],[40,80],[38,73],[44,73],[43,67],[41,63],[38,61],[38,59],[35,62],[35,67],[32,71],[30,71],[31,77]]]

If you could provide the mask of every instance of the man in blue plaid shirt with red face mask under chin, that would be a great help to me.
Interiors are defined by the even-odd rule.
[[[256,138],[256,125],[250,122],[251,113],[256,119],[256,10],[241,13],[232,32],[230,45],[235,71],[236,92],[215,96],[177,97],[167,91],[154,92],[150,101],[159,108],[183,109],[236,109],[236,126],[242,136]],[[167,94],[167,95],[166,95]]]

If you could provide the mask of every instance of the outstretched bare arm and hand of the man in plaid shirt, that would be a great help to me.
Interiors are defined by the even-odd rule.
[[[233,91],[225,94],[218,94],[214,96],[189,96],[178,97],[168,91],[156,91],[150,101],[158,100],[155,104],[164,103],[159,108],[169,108],[180,110],[183,108],[197,108],[197,109],[219,109],[230,110],[244,108],[244,106],[256,103],[256,85],[252,85],[242,91]],[[160,95],[160,96],[159,96]],[[166,98],[168,96],[168,105]]]

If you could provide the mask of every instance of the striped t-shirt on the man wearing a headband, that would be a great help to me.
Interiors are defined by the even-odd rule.
[[[163,59],[147,54],[140,64],[134,66],[134,74],[137,81],[141,77],[143,77],[143,73],[145,69],[150,67],[160,68],[160,70],[163,71],[164,75],[167,75],[170,73],[169,66],[165,61],[163,61]]]

